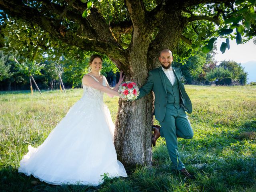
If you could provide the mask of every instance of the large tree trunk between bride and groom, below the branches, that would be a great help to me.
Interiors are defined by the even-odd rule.
[[[146,28],[135,30],[134,36],[136,33],[146,34]],[[149,44],[150,38],[146,35],[133,40],[133,46],[127,50],[128,64],[123,65],[126,81],[136,82],[139,88],[148,77]],[[125,166],[152,162],[152,104],[152,94],[135,101],[119,100],[114,144],[118,159]]]

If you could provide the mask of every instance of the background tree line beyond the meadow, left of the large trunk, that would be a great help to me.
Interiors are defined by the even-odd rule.
[[[82,60],[67,59],[61,56],[58,60],[48,60],[46,56],[41,62],[29,61],[18,52],[0,50],[0,90],[28,90],[29,76],[33,75],[40,89],[58,89],[59,74],[66,88],[81,88],[82,77],[88,73],[89,55]],[[104,56],[102,74],[113,86],[116,83],[118,68]]]

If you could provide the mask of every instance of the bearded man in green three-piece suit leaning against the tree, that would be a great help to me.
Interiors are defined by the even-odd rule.
[[[155,95],[155,118],[160,126],[153,126],[153,146],[156,140],[164,137],[172,163],[188,178],[192,176],[180,160],[177,138],[191,139],[194,135],[186,112],[192,112],[192,104],[184,85],[181,82],[182,73],[179,68],[172,67],[172,52],[164,49],[160,52],[161,66],[148,73],[148,80],[140,88],[138,98],[144,97],[153,90]],[[186,112],[185,112],[186,111]]]

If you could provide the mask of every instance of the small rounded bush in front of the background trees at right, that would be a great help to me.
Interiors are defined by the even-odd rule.
[[[232,73],[230,70],[225,69],[224,67],[216,67],[210,72],[206,73],[206,79],[208,81],[214,81],[214,80],[221,80],[223,78],[230,78],[232,76]]]

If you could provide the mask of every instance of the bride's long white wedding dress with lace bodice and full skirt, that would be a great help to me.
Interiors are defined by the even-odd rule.
[[[105,78],[103,85],[106,86]],[[83,88],[84,96],[43,144],[38,148],[28,146],[29,152],[20,161],[19,172],[55,185],[97,186],[104,181],[104,173],[110,178],[127,176],[116,157],[114,124],[103,102],[103,92],[86,85]]]

